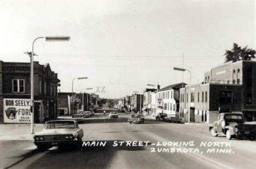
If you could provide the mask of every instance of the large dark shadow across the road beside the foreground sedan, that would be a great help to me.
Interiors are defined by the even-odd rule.
[[[80,150],[56,149],[48,150],[45,154],[28,165],[27,169],[33,168],[109,168],[115,156],[120,150],[126,151],[143,151],[144,147],[129,147],[126,145],[118,145],[113,147],[114,140],[95,141],[106,142],[103,146],[82,147]]]

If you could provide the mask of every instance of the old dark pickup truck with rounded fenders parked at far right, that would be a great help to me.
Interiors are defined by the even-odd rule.
[[[214,137],[223,133],[227,139],[247,136],[252,140],[256,136],[256,123],[245,122],[242,113],[220,113],[209,130]]]

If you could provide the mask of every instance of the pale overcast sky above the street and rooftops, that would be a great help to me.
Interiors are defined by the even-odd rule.
[[[101,97],[142,92],[182,81],[182,66],[201,83],[203,73],[224,62],[232,43],[255,49],[253,0],[0,1],[0,60],[30,62],[39,36],[70,36],[69,42],[39,39],[35,61],[50,63],[61,91],[106,86]],[[188,73],[184,81],[189,81]]]

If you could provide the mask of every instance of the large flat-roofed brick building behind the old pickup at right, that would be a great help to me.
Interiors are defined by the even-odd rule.
[[[227,62],[205,73],[202,84],[191,85],[190,120],[212,123],[220,112],[242,112],[256,121],[256,62]],[[189,86],[181,89],[179,114],[188,121]]]

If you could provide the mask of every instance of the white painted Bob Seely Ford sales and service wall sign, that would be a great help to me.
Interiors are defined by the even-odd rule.
[[[4,123],[30,123],[30,99],[4,98]]]

